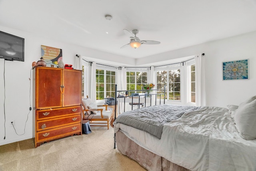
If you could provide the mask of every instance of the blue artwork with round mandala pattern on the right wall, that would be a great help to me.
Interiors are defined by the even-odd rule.
[[[248,59],[222,62],[223,80],[248,79]]]

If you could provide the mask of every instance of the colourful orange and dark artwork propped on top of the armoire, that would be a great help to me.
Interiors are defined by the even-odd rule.
[[[62,60],[62,49],[52,48],[41,45],[41,57],[44,58],[46,66],[58,66],[58,62]]]

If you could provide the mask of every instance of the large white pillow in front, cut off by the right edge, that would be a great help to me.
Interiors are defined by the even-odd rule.
[[[256,139],[256,96],[250,97],[239,105],[234,120],[242,138]]]

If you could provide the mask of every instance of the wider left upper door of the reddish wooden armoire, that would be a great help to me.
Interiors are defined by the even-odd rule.
[[[36,67],[36,109],[62,107],[62,69]]]

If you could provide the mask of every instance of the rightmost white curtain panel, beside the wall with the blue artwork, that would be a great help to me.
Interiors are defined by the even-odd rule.
[[[196,106],[206,105],[204,66],[205,56],[200,54],[196,57]]]

